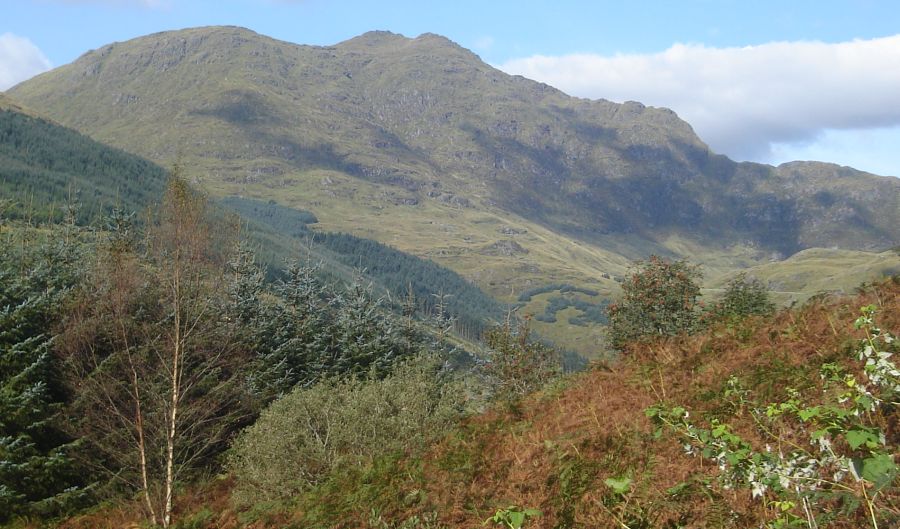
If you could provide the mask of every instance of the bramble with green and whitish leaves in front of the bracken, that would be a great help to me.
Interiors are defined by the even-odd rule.
[[[837,364],[824,364],[823,403],[807,404],[792,390],[783,402],[751,407],[751,417],[774,448],[767,444],[758,450],[718,420],[698,427],[680,406],[657,405],[646,414],[660,428],[679,433],[685,452],[714,460],[726,488],[747,488],[764,501],[773,513],[769,527],[819,527],[826,509],[817,506],[838,499],[853,509],[864,506],[870,526],[877,529],[880,496],[898,474],[893,456],[898,447],[874,418],[897,406],[900,369],[888,352],[895,338],[875,325],[876,308],[861,310],[855,326],[866,335],[857,355],[863,380]],[[726,398],[739,399],[740,407],[753,404],[735,378],[727,384]]]

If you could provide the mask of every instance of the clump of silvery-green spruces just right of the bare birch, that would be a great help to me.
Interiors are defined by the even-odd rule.
[[[230,276],[226,313],[253,351],[248,381],[260,403],[322,378],[383,376],[426,347],[418,322],[401,322],[361,277],[329,288],[316,265],[295,262],[267,290],[246,248]]]

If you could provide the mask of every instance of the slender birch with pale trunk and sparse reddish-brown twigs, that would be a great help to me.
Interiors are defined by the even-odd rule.
[[[225,256],[204,197],[173,176],[143,241],[121,232],[66,326],[73,433],[168,528],[177,483],[224,446],[241,415],[241,353],[219,317]]]

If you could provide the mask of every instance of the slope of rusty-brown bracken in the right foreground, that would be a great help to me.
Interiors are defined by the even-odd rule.
[[[798,410],[843,405],[831,400],[839,391],[823,389],[837,391],[846,385],[847,374],[868,380],[850,369],[859,362],[854,355],[866,338],[865,326],[857,329],[853,323],[859,307],[869,305],[878,312],[878,327],[892,333],[900,329],[900,280],[853,297],[823,296],[771,316],[724,321],[696,336],[628,347],[611,369],[572,375],[561,390],[526,397],[514,409],[497,406],[464,419],[418,455],[393,452],[337,465],[278,508],[234,510],[206,527],[469,528],[481,527],[511,506],[541,512],[523,522],[526,528],[744,529],[808,523],[803,495],[759,501],[752,488],[722,480],[718,453],[711,458],[686,453],[689,443],[681,432],[657,430],[653,414],[647,417],[644,410],[659,403],[668,403],[669,411],[679,406],[689,411],[681,417],[694,428],[713,435],[716,426],[709,425],[727,425],[716,435],[733,435],[730,440],[744,440],[758,453],[765,452],[766,442],[777,452],[777,444],[761,436],[760,423],[784,420],[793,428],[779,430],[784,442],[802,445],[802,427],[811,423],[798,419]],[[823,370],[840,371],[829,365],[844,370],[831,382],[819,376]],[[775,404],[772,417],[756,414],[756,402]],[[847,453],[851,461],[868,457],[866,450],[895,456],[884,447],[896,447],[900,437],[896,403],[880,407],[878,414],[865,426],[877,427],[884,442],[878,435],[864,435],[870,430],[856,429],[856,437],[841,441],[855,446]],[[804,442],[805,449],[818,450],[809,439]],[[696,443],[693,449],[702,450]],[[727,469],[731,463],[726,463]],[[876,474],[868,472],[873,478],[887,476]],[[860,496],[863,489],[870,497],[876,491],[874,483],[847,479]],[[764,494],[774,484],[768,486]],[[896,527],[896,476],[882,479],[877,491],[872,504],[877,527]],[[227,502],[228,491],[221,494]],[[835,508],[816,519],[818,527],[873,525],[873,509],[864,498],[855,507],[845,500],[821,500]],[[194,501],[183,498],[179,508],[202,513],[222,500]]]

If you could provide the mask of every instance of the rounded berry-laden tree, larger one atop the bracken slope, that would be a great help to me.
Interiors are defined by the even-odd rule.
[[[622,283],[622,299],[607,309],[613,347],[652,336],[674,336],[697,328],[699,269],[687,261],[651,256],[639,261]]]

